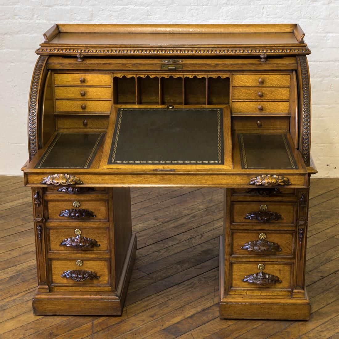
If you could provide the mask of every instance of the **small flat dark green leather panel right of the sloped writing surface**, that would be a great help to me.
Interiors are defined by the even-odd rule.
[[[298,168],[286,134],[238,134],[242,168]]]

